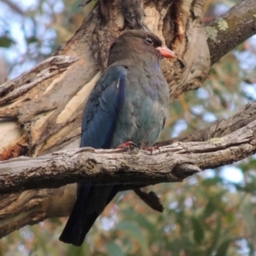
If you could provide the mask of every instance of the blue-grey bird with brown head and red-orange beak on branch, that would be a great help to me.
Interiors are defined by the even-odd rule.
[[[110,46],[108,67],[91,91],[82,119],[80,147],[151,147],[169,113],[169,89],[160,71],[173,59],[152,32],[127,30]],[[120,146],[121,145],[121,146]],[[77,199],[60,241],[81,246],[86,234],[122,184],[79,183]]]

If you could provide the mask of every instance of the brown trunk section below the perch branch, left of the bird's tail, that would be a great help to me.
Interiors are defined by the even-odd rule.
[[[0,195],[0,237],[27,224],[38,224],[45,218],[68,216],[75,198],[75,184],[59,189],[34,189],[21,194]]]

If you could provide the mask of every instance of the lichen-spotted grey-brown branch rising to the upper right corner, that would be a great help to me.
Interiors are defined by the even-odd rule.
[[[235,49],[247,38],[256,34],[255,0],[237,3],[207,26],[206,30],[212,65],[231,49]]]

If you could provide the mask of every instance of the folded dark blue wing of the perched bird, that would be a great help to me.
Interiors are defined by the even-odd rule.
[[[81,147],[110,148],[119,110],[125,99],[125,67],[108,67],[84,110]]]

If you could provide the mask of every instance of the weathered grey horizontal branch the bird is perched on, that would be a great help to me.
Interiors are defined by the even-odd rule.
[[[212,142],[173,143],[149,154],[143,150],[77,148],[37,158],[0,163],[0,192],[56,188],[81,180],[104,183],[180,182],[195,172],[224,166],[256,150],[256,121]]]

